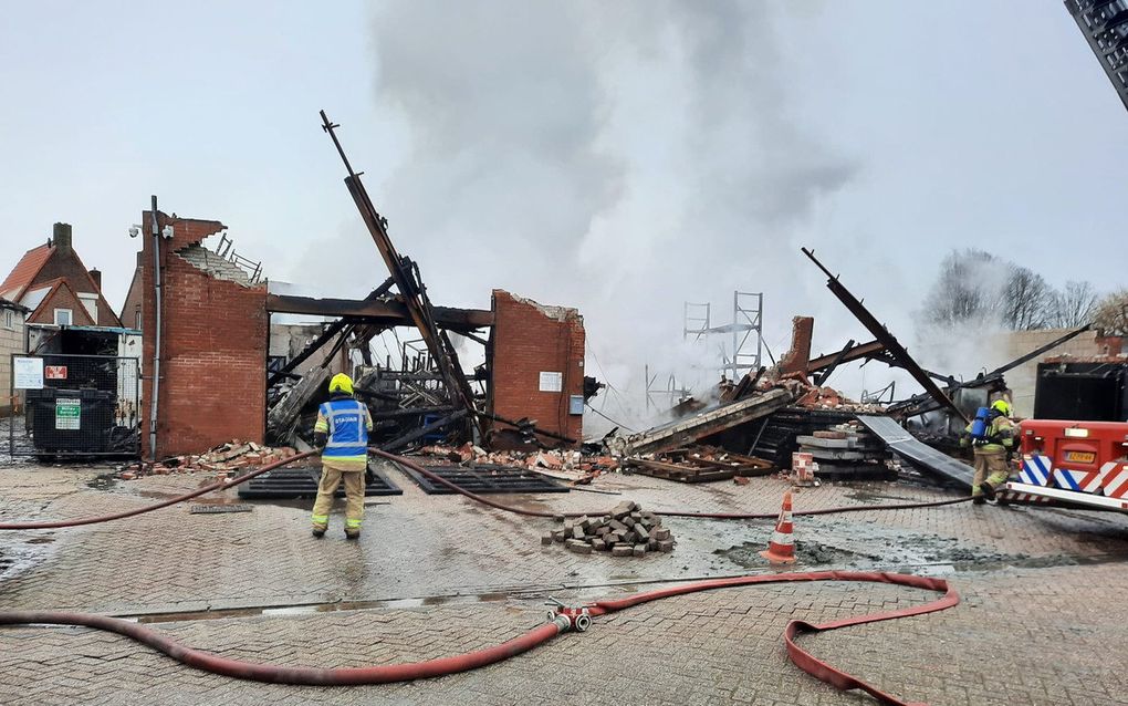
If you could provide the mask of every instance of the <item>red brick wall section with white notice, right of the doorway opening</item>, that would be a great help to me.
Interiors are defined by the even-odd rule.
[[[541,429],[579,441],[583,416],[569,413],[569,396],[583,394],[583,317],[501,289],[493,291],[493,311],[491,411],[536,419]],[[562,373],[563,391],[541,391],[540,373]]]

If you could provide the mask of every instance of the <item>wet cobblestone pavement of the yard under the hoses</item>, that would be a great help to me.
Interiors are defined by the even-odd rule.
[[[104,469],[0,469],[0,521],[135,507],[210,480],[108,481]],[[543,621],[547,595],[575,601],[662,582],[767,570],[756,558],[770,522],[667,520],[670,555],[578,556],[541,547],[550,520],[426,496],[389,473],[402,497],[371,498],[360,542],[308,534],[305,503],[253,513],[176,506],[70,530],[0,532],[0,607],[74,609],[160,620],[194,647],[293,665],[359,666],[457,654]],[[546,509],[776,512],[785,483],[682,486],[634,476],[597,489],[514,496]],[[230,498],[217,502],[236,502]],[[823,486],[795,508],[938,499],[905,483]],[[801,638],[816,655],[911,700],[933,704],[1128,703],[1128,517],[957,505],[799,517],[797,569],[890,568],[945,575],[954,609]],[[782,631],[931,600],[874,584],[732,589],[600,618],[531,653],[475,672],[408,685],[299,688],[197,672],[116,635],[79,628],[0,629],[3,704],[854,704],[794,668]],[[306,608],[301,608],[306,605]],[[294,608],[297,607],[297,608]],[[211,610],[204,616],[192,611]],[[263,610],[265,609],[265,610]],[[226,611],[226,612],[219,612]]]

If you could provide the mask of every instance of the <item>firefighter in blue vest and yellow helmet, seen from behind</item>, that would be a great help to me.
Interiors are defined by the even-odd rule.
[[[364,471],[368,470],[368,433],[372,416],[353,398],[352,380],[337,373],[329,381],[329,401],[317,409],[314,439],[321,448],[321,482],[314,503],[314,537],[329,528],[333,494],[345,483],[345,537],[358,539],[364,516]]]

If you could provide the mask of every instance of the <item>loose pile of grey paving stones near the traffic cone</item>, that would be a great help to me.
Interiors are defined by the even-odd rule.
[[[673,537],[662,518],[624,500],[601,517],[562,518],[564,526],[540,538],[540,543],[563,543],[575,554],[610,551],[615,557],[642,557],[653,551],[673,551]]]

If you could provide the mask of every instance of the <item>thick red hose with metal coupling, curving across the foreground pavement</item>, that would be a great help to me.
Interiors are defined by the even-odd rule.
[[[835,630],[838,628],[862,625],[865,622],[878,622],[880,620],[892,620],[896,618],[908,618],[938,610],[951,608],[959,603],[959,594],[948,585],[948,582],[940,578],[926,578],[907,574],[887,574],[875,572],[805,572],[792,574],[774,574],[761,576],[740,576],[735,578],[719,578],[714,581],[702,581],[684,585],[675,585],[667,589],[659,589],[647,593],[638,593],[618,600],[597,601],[589,607],[592,616],[602,616],[609,612],[624,610],[638,603],[656,601],[672,595],[695,593],[697,591],[710,591],[714,589],[729,589],[733,586],[747,586],[761,583],[781,582],[812,582],[812,581],[865,581],[875,583],[887,583],[926,591],[942,592],[940,599],[900,610],[891,610],[856,618],[846,618],[821,625],[812,625],[804,620],[791,620],[784,629],[784,642],[787,645],[787,655],[804,672],[826,681],[841,690],[861,689],[883,704],[897,704],[906,706],[905,701],[881,691],[876,687],[866,683],[855,677],[822,662],[795,642],[796,635],[801,633],[819,633]],[[361,683],[387,683],[394,681],[411,681],[414,679],[428,679],[465,672],[502,660],[508,660],[514,655],[527,652],[538,645],[547,643],[552,638],[569,629],[566,619],[557,618],[529,630],[525,635],[478,650],[462,655],[439,657],[424,662],[413,662],[406,664],[390,664],[380,666],[362,666],[347,669],[320,669],[300,666],[277,666],[274,664],[258,664],[230,660],[215,654],[186,647],[160,633],[157,633],[143,625],[95,616],[90,613],[74,613],[62,611],[10,611],[0,612],[0,625],[77,625],[90,627],[99,630],[107,630],[124,635],[159,652],[167,654],[174,660],[195,669],[209,671],[215,674],[233,677],[237,679],[249,679],[254,681],[265,681],[272,683],[291,683],[307,686],[346,686]]]

